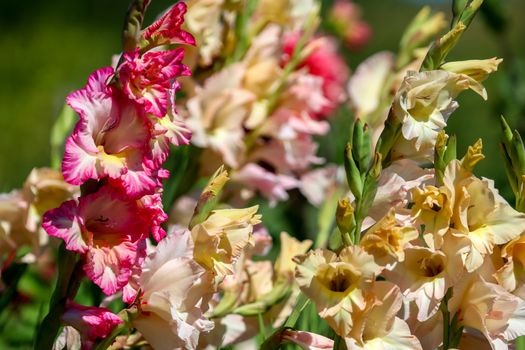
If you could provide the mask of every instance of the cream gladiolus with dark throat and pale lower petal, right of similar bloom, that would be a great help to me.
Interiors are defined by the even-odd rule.
[[[453,237],[443,243],[443,251],[426,247],[405,249],[405,260],[393,271],[385,271],[389,281],[396,283],[407,300],[418,307],[418,321],[425,321],[438,310],[447,289],[464,273],[461,255],[465,248]]]

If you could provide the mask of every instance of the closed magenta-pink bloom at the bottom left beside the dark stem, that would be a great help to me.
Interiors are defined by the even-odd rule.
[[[97,339],[106,338],[117,325],[124,323],[106,308],[83,306],[72,301],[67,302],[62,322],[80,332],[83,349],[91,349]]]

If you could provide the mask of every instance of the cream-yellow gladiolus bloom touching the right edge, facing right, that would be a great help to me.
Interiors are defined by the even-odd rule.
[[[525,231],[525,214],[499,195],[492,180],[478,179],[459,161],[452,161],[444,182],[455,193],[451,233],[470,245],[464,256],[467,271],[480,267],[494,245],[505,244]]]

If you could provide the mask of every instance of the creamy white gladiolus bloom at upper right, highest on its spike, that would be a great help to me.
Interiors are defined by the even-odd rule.
[[[434,145],[438,131],[446,126],[448,117],[458,107],[454,99],[469,88],[479,93],[479,85],[466,75],[442,70],[408,72],[392,106],[394,115],[402,123],[403,137],[415,139],[416,150],[423,145]],[[486,99],[484,90],[481,96]]]

